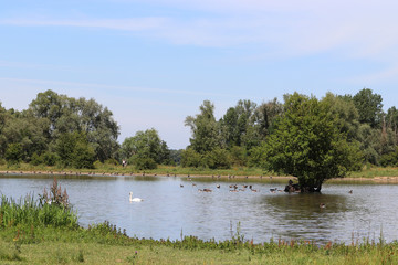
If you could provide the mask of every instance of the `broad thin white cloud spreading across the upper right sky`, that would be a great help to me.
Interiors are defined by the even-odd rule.
[[[245,49],[252,57],[293,57],[334,53],[395,65],[398,61],[398,2],[316,0],[108,0],[187,9],[142,18],[71,18],[38,15],[0,20],[0,25],[72,26],[139,34],[177,45]],[[72,15],[73,17],[73,15]],[[249,51],[249,52],[248,52]],[[254,54],[254,55],[252,55]],[[261,55],[265,54],[265,55]],[[392,70],[391,70],[392,71]]]

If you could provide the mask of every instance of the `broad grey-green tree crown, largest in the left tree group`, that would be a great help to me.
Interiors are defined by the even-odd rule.
[[[32,117],[46,120],[44,137],[51,144],[65,132],[83,132],[104,162],[118,150],[119,127],[113,114],[94,99],[67,97],[53,91],[39,93],[29,106]],[[43,123],[44,124],[44,123]]]

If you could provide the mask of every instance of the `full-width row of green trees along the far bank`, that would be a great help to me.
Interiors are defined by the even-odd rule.
[[[297,170],[303,167],[300,159],[308,160],[333,146],[335,149],[321,157],[338,160],[333,150],[355,150],[339,153],[343,158],[355,157],[352,161],[355,167],[350,169],[363,163],[398,165],[398,110],[390,107],[385,113],[381,96],[371,89],[363,88],[355,95],[327,93],[321,99],[294,93],[283,99],[283,103],[275,98],[259,105],[239,100],[220,119],[214,117],[214,105],[205,100],[199,113],[185,120],[191,129],[190,145],[184,150],[170,150],[154,128],[137,131],[119,145],[119,126],[107,107],[94,99],[46,91],[39,93],[28,109],[21,112],[6,109],[0,103],[0,162],[93,168],[96,163],[126,160],[137,169],[181,165],[281,170],[285,159]],[[328,141],[326,135],[333,135],[333,140]],[[316,137],[321,138],[314,140]],[[301,146],[296,149],[297,161],[282,156],[290,145]],[[307,162],[320,166],[315,160]]]

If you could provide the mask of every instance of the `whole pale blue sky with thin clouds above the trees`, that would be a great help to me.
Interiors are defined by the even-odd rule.
[[[0,102],[52,89],[113,112],[119,142],[155,128],[186,148],[187,116],[213,103],[298,92],[398,98],[398,1],[0,0]]]

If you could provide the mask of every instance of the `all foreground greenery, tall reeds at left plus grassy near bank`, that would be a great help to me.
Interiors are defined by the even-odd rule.
[[[1,198],[1,264],[397,264],[398,242],[316,244],[271,240],[253,244],[238,231],[231,240],[129,237],[108,222],[82,227],[56,180],[15,202]]]

